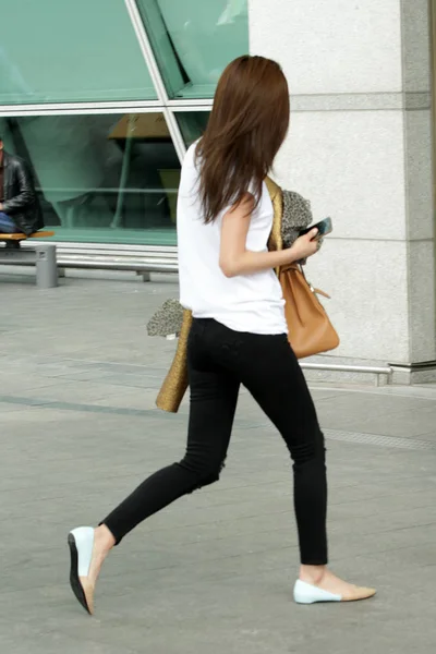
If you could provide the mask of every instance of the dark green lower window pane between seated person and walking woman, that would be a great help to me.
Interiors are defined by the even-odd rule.
[[[180,162],[161,113],[0,119],[59,241],[175,244]]]

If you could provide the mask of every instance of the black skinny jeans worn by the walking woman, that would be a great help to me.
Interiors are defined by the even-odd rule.
[[[286,335],[259,336],[194,319],[187,347],[191,411],[182,461],[143,482],[104,524],[117,543],[186,493],[219,479],[243,384],[282,435],[294,465],[301,562],[327,562],[324,436],[304,375]]]

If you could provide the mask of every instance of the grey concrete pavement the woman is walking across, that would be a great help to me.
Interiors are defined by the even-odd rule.
[[[290,464],[241,395],[219,484],[111,554],[89,618],[65,536],[181,457],[186,404],[154,400],[174,348],[145,324],[168,280],[0,276],[1,654],[424,654],[436,645],[436,388],[316,385],[331,567],[378,595],[295,606]]]

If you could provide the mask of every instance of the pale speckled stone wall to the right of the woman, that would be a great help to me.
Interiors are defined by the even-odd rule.
[[[426,0],[250,0],[251,52],[277,59],[291,130],[276,177],[331,216],[310,264],[335,356],[436,359]]]

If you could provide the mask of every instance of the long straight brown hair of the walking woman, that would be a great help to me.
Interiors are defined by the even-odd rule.
[[[240,204],[249,189],[259,202],[262,183],[288,126],[289,89],[280,65],[250,56],[229,63],[196,146],[205,222],[227,206]]]

